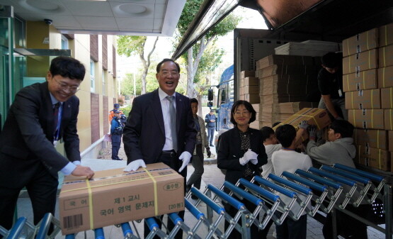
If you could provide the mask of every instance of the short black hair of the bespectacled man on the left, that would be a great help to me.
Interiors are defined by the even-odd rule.
[[[84,74],[86,69],[84,65],[72,57],[55,57],[50,62],[49,68],[52,76],[61,75],[62,77],[68,77],[69,79],[84,80]]]

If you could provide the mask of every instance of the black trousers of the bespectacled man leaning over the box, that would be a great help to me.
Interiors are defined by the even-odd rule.
[[[5,161],[6,159],[1,160]],[[17,179],[18,182],[10,181],[11,177],[8,179],[0,177],[0,180],[4,180],[0,183],[0,226],[8,230],[12,227],[13,213],[16,209],[19,192],[23,187],[27,189],[33,206],[34,224],[39,223],[46,213],[52,213],[55,216],[56,193],[59,184],[57,178],[53,177],[39,161],[32,160],[31,165],[24,162],[20,165],[15,164],[14,168],[16,171],[13,172],[18,172],[17,170],[22,168],[28,171],[25,171],[25,175],[21,175]],[[2,170],[0,171],[2,172]],[[11,173],[4,172],[4,174]]]

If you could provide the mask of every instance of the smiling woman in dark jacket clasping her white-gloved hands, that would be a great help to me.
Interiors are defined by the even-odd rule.
[[[240,178],[251,180],[255,175],[261,175],[260,167],[266,165],[268,156],[263,146],[260,130],[249,128],[249,123],[255,121],[256,111],[248,101],[236,101],[231,110],[231,122],[234,128],[222,133],[217,154],[217,167],[226,169],[225,181],[236,184]],[[253,212],[256,206],[243,200],[249,211]],[[234,216],[237,209],[225,204],[225,210]],[[225,222],[225,228],[229,226]],[[261,238],[262,230],[253,224],[251,238]],[[233,230],[229,238],[241,238],[237,230]]]

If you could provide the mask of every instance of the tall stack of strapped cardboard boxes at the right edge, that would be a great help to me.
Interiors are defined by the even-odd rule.
[[[392,170],[387,131],[393,130],[392,32],[393,23],[343,40],[343,90],[356,128],[355,162],[384,171]]]

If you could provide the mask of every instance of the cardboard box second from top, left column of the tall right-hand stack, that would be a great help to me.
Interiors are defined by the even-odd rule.
[[[368,50],[343,57],[343,74],[378,68],[378,50]]]

